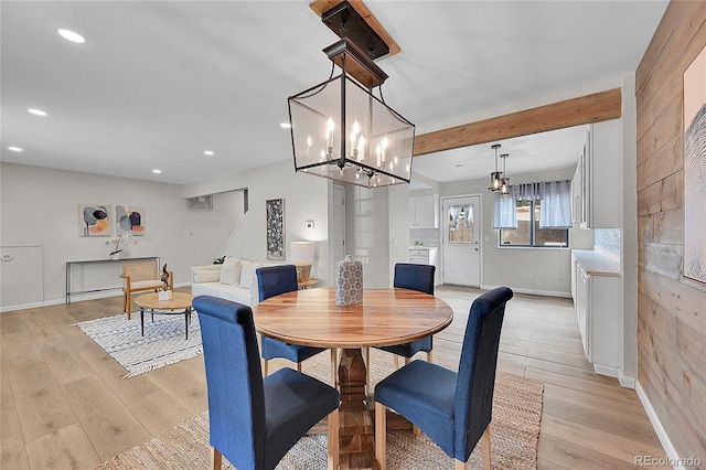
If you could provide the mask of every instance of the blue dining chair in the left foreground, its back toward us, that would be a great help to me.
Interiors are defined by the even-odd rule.
[[[329,468],[339,460],[339,392],[282,368],[263,378],[249,307],[210,296],[199,312],[208,389],[212,467],[274,469],[313,425],[329,416]]]

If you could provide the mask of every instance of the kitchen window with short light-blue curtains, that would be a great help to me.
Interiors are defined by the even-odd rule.
[[[496,195],[494,221],[495,228],[500,228],[501,246],[567,247],[571,227],[570,182],[513,185],[510,195]]]

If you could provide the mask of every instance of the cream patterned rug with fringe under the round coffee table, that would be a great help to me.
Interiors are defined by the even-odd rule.
[[[145,337],[140,334],[140,316],[128,320],[126,313],[76,323],[92,340],[110,354],[128,374],[143,374],[203,353],[199,316],[191,314],[189,340],[183,314],[145,316]]]

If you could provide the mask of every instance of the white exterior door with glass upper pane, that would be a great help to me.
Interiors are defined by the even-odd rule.
[[[480,287],[480,195],[442,199],[443,284]]]

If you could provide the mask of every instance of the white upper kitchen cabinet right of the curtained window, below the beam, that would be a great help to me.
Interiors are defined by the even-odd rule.
[[[620,227],[622,119],[590,125],[571,181],[573,220],[581,228]]]

